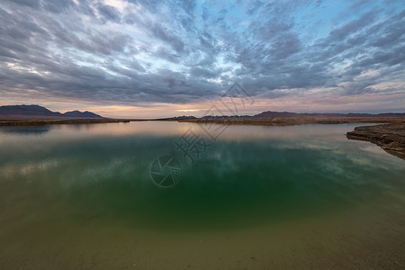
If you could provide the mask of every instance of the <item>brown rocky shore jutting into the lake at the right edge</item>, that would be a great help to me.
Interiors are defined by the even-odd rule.
[[[388,153],[405,159],[405,122],[356,127],[347,139],[370,141]]]

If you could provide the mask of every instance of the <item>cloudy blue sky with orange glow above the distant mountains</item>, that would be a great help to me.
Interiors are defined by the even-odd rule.
[[[238,114],[405,112],[405,2],[0,2],[0,105],[203,116],[235,83]]]

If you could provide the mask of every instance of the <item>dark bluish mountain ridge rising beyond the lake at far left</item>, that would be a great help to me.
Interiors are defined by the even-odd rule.
[[[93,112],[52,112],[47,108],[41,107],[40,105],[9,105],[0,106],[0,117],[71,117],[71,118],[103,118],[102,116],[95,114]]]

